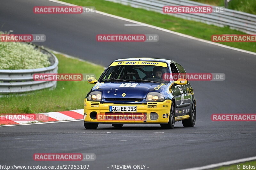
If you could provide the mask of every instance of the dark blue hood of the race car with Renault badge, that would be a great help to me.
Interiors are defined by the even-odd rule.
[[[151,82],[127,83],[129,82],[98,82],[93,86],[92,91],[102,92],[102,98],[145,99],[148,92],[160,92],[168,84]],[[125,97],[122,96],[123,93],[126,94]]]

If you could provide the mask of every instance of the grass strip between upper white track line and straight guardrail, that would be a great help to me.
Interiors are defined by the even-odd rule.
[[[116,16],[129,18],[132,20],[147,23],[153,26],[162,27],[179,33],[191,35],[211,41],[212,34],[245,34],[240,31],[231,30],[229,27],[218,27],[203,24],[200,22],[189,21],[181,18],[172,17],[170,15],[161,14],[144,9],[132,8],[130,6],[117,4],[104,0],[62,0],[79,6],[95,6],[96,10],[103,11]],[[100,34],[100,33],[99,33]],[[161,41],[161,40],[159,40]],[[172,41],[172,40],[170,40]],[[241,48],[248,51],[256,52],[255,42],[221,42],[235,48]]]

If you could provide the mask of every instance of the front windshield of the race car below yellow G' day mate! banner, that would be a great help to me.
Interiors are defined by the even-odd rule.
[[[166,83],[163,80],[165,73],[169,73],[167,67],[152,65],[116,65],[108,67],[108,70],[101,76],[100,82],[153,82]]]

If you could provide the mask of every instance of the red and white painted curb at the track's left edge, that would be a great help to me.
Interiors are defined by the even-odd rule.
[[[0,125],[15,125],[15,124],[28,124],[28,123],[39,123],[39,121],[35,119],[31,119],[31,117],[27,117],[28,114],[20,114],[25,116],[25,121],[12,119],[12,117],[8,116],[8,114],[4,116],[0,116]],[[69,110],[63,112],[48,112],[48,113],[39,113],[36,115],[44,115],[46,120],[42,120],[40,122],[55,122],[55,121],[68,121],[68,120],[79,120],[84,117],[84,109],[77,110]]]

